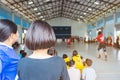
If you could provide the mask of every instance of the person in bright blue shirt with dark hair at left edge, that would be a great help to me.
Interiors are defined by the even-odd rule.
[[[15,80],[18,55],[12,48],[18,39],[17,25],[0,19],[0,80]]]

